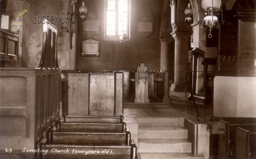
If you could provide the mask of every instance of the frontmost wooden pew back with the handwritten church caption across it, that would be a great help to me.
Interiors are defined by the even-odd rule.
[[[136,159],[133,145],[42,145],[38,159]]]

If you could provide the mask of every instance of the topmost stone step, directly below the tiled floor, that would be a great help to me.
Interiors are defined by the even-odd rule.
[[[175,126],[183,127],[184,118],[178,117],[134,117],[139,127],[143,126]]]

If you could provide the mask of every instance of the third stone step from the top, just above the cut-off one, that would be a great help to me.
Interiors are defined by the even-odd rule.
[[[143,153],[191,153],[188,139],[138,139],[138,152]]]

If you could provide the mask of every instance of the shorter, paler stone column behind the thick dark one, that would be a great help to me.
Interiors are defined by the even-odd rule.
[[[168,47],[170,43],[172,43],[172,37],[160,37],[161,43],[161,56],[160,56],[160,70],[161,71],[169,71],[168,67]]]

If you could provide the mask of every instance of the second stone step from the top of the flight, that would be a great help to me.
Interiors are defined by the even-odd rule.
[[[138,139],[187,139],[184,127],[139,127]]]

